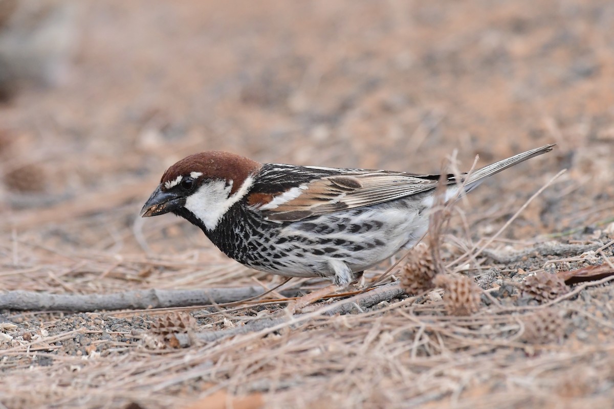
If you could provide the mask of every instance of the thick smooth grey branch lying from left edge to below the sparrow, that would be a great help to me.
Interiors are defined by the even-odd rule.
[[[114,294],[48,294],[33,291],[7,291],[0,294],[0,309],[37,311],[95,311],[187,307],[236,302],[260,296],[260,286],[190,290],[149,289]],[[297,291],[282,291],[287,297]]]

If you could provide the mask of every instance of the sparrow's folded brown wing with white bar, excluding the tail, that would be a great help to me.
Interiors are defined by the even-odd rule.
[[[298,221],[428,191],[437,186],[439,178],[438,175],[356,169],[328,169],[332,174],[322,175],[327,168],[295,169],[303,170],[305,178],[316,174],[317,177],[302,183],[297,179],[297,183],[285,186],[281,192],[271,191],[271,185],[267,186],[268,193],[252,189],[248,204],[270,221]],[[448,182],[454,183],[453,175],[448,175]]]

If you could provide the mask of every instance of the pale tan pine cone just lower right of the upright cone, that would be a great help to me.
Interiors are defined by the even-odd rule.
[[[443,302],[449,315],[472,315],[480,310],[480,288],[464,275],[438,274],[433,283],[443,288]]]

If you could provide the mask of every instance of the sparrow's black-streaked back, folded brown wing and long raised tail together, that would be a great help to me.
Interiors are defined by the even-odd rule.
[[[481,167],[467,174],[446,175],[446,185],[465,182],[470,191],[484,178],[550,152],[545,145]],[[336,169],[328,167],[267,164],[259,182],[252,186],[247,204],[271,221],[298,221],[348,208],[393,201],[437,187],[439,175],[414,175],[385,170]],[[465,180],[466,178],[466,180]]]

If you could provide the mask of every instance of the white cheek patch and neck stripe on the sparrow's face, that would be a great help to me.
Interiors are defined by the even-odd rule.
[[[232,196],[229,196],[232,182],[213,180],[203,183],[185,199],[184,207],[200,219],[208,230],[215,230],[222,216],[247,194],[253,183],[254,179],[247,177],[241,188]]]

